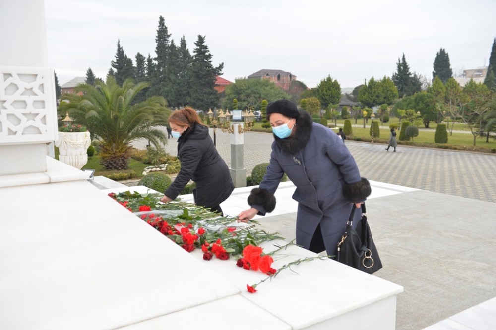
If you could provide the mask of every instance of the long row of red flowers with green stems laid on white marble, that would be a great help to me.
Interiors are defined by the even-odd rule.
[[[293,242],[279,246],[270,253],[263,253],[259,244],[284,238],[256,229],[254,224],[258,224],[257,221],[250,220],[254,224],[248,226],[237,225],[237,218],[220,217],[219,214],[194,204],[181,201],[163,204],[160,202],[162,195],[157,193],[140,194],[126,191],[120,194],[110,193],[109,196],[187,252],[201,249],[203,260],[211,260],[214,256],[220,260],[229,260],[231,256],[239,256],[236,262],[238,267],[261,271],[268,275],[257,284],[247,284],[250,293],[255,293],[257,285],[275,277],[283,269],[303,261],[327,259],[325,256],[298,259],[274,269],[272,256]]]

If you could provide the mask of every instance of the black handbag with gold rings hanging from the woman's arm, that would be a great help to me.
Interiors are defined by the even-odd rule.
[[[362,204],[362,220],[357,229],[352,228],[353,215],[357,207],[353,204],[346,231],[338,243],[337,261],[366,273],[372,274],[382,268],[377,248],[372,239],[371,228],[367,222],[365,203]]]

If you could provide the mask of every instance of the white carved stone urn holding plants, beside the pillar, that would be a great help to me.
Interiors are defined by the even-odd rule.
[[[90,132],[59,132],[59,160],[62,163],[81,169],[88,163],[88,147],[91,144]]]

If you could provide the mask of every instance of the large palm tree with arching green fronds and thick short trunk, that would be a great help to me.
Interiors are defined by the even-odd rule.
[[[157,148],[167,143],[167,136],[158,128],[168,122],[170,110],[166,100],[153,96],[133,104],[136,95],[146,87],[148,83],[134,84],[132,79],[125,80],[121,87],[109,75],[106,83],[78,84],[75,94],[62,98],[69,102],[61,102],[59,114],[67,111],[76,122],[88,127],[101,142],[101,163],[108,170],[128,167],[133,140],[144,138]]]

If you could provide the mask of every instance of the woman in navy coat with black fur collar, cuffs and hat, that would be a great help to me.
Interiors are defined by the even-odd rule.
[[[255,214],[275,208],[274,192],[284,175],[295,184],[298,202],[296,243],[329,256],[346,229],[353,204],[360,207],[371,194],[369,181],[360,176],[357,163],[339,136],[288,100],[271,102],[266,108],[272,126],[272,153],[258,188],[248,197],[250,209],[238,220],[247,222]],[[355,212],[353,227],[361,219]]]

